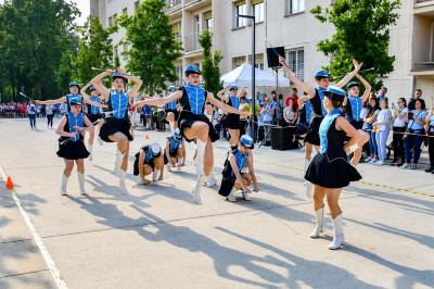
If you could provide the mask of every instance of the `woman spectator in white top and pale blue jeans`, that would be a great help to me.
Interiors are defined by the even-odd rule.
[[[386,159],[386,147],[387,147],[387,137],[391,131],[391,121],[392,121],[392,112],[388,109],[388,100],[383,98],[380,102],[379,115],[376,115],[376,121],[373,123],[374,129],[376,129],[376,147],[379,149],[379,161],[374,163],[375,165],[383,165],[384,160]]]

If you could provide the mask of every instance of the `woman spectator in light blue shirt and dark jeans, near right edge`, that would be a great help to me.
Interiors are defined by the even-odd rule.
[[[416,101],[416,110],[407,113],[407,128],[410,129],[410,136],[407,140],[404,141],[404,149],[406,152],[406,163],[401,166],[401,168],[411,168],[416,169],[418,166],[420,153],[421,153],[421,146],[423,139],[425,138],[425,104],[422,103],[420,100]],[[413,162],[411,163],[411,149],[414,151]]]

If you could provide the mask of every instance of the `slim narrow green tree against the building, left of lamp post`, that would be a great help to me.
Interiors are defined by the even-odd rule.
[[[217,92],[222,89],[222,81],[220,81],[220,67],[218,64],[222,60],[221,51],[214,51],[213,49],[213,34],[209,29],[205,29],[199,37],[199,43],[203,48],[204,63],[202,77],[204,79],[204,87],[206,90],[217,96]]]

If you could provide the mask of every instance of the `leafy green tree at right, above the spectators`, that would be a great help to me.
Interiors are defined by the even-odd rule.
[[[312,9],[310,12],[317,20],[331,23],[336,29],[332,39],[317,45],[319,51],[334,59],[324,68],[342,78],[353,70],[352,60],[357,59],[363,62],[363,68],[374,68],[363,77],[378,91],[383,81],[375,77],[394,71],[395,56],[388,55],[390,27],[399,17],[396,12],[399,7],[399,0],[336,0],[332,8]]]

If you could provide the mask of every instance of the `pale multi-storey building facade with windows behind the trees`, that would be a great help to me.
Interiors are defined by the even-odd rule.
[[[124,13],[132,14],[142,1],[90,0],[90,11],[100,15],[101,24],[108,27]],[[316,5],[331,7],[334,0],[166,0],[165,13],[170,15],[173,33],[182,41],[183,56],[174,64],[179,74],[175,85],[182,84],[183,68],[190,64],[202,67],[202,49],[197,37],[206,28],[213,30],[213,45],[224,60],[221,74],[228,73],[252,58],[252,21],[237,14],[256,17],[255,65],[271,72],[267,63],[266,39],[273,47],[284,47],[286,62],[293,72],[309,85],[315,85],[314,74],[330,63],[330,58],[317,50],[320,40],[331,38],[334,28],[321,24],[309,12]],[[426,103],[434,96],[434,0],[401,1],[397,25],[391,27],[390,54],[396,56],[395,71],[383,78],[392,101],[409,98],[416,88],[423,90]],[[118,43],[124,28],[112,36],[114,55],[128,50]],[[124,65],[128,56],[120,56]],[[365,67],[369,68],[369,67]],[[279,77],[283,77],[279,71]],[[276,88],[258,88],[269,91]],[[288,89],[280,89],[288,96]]]

